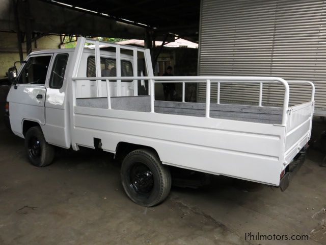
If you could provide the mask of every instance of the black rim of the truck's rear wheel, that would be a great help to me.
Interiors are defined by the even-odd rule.
[[[130,187],[138,194],[148,197],[154,187],[153,173],[144,163],[130,167]]]

